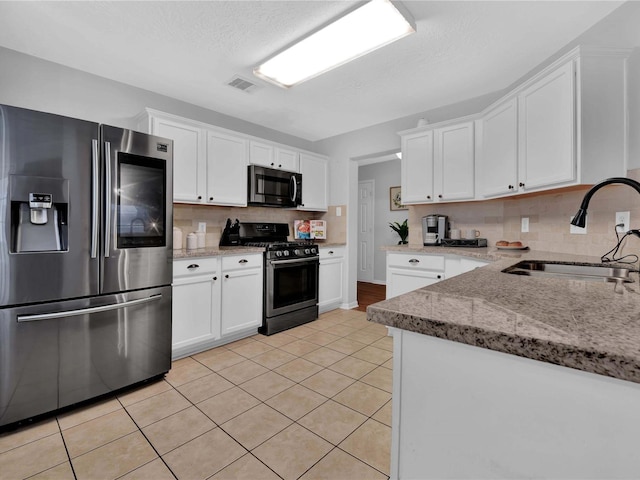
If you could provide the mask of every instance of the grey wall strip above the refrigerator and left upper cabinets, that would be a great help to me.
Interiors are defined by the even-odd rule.
[[[314,151],[307,140],[2,47],[0,103],[132,129],[150,107]]]

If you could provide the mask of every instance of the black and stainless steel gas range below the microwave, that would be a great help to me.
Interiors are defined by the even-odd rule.
[[[317,319],[318,247],[287,241],[286,223],[239,223],[237,231],[241,245],[265,247],[263,318],[258,331],[272,335]]]

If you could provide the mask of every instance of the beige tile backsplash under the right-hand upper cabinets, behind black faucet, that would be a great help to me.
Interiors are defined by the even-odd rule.
[[[640,169],[628,177],[640,181]],[[640,196],[626,185],[609,185],[595,193],[589,204],[587,233],[569,233],[570,219],[578,211],[590,186],[532,193],[497,200],[409,207],[409,244],[422,244],[421,219],[429,214],[449,216],[451,228],[476,228],[489,245],[498,240],[519,240],[535,250],[601,256],[616,243],[615,213],[631,212],[631,228],[640,227]],[[521,233],[521,218],[529,217],[529,232]],[[623,254],[640,254],[640,239],[627,238]]]

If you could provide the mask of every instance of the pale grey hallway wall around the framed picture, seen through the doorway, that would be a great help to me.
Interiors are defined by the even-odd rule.
[[[391,230],[389,223],[402,223],[409,218],[408,210],[389,208],[389,188],[400,185],[400,160],[364,165],[359,168],[358,181],[373,180],[375,182],[374,219],[373,219],[373,281],[386,283],[386,254],[380,247],[397,245],[400,237]]]

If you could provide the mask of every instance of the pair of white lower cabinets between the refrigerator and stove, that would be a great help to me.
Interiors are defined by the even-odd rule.
[[[172,358],[255,335],[262,296],[260,253],[174,260]]]

